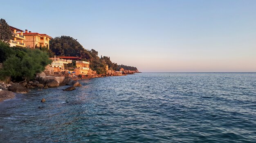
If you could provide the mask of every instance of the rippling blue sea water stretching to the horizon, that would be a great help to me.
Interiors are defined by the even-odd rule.
[[[75,91],[35,89],[1,102],[0,143],[256,143],[255,73],[80,82]]]

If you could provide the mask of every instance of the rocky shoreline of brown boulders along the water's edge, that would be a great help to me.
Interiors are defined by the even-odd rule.
[[[45,71],[44,71],[45,72]],[[46,74],[42,72],[40,74],[36,75],[36,78],[29,82],[20,82],[20,83],[13,83],[11,81],[3,82],[0,81],[0,102],[12,99],[15,97],[15,93],[28,93],[30,89],[38,88],[38,90],[43,90],[51,87],[59,87],[59,86],[65,86],[70,85],[67,89],[63,89],[63,91],[72,91],[75,90],[75,87],[82,86],[77,80],[81,79],[90,79],[90,78],[100,78],[104,76],[125,76],[127,74],[135,74],[140,73],[139,71],[130,71],[130,70],[122,70],[120,69],[120,72],[115,71],[108,71],[106,74],[90,74],[90,75],[79,75],[79,76],[70,76],[67,75],[66,72],[59,72],[59,75],[64,76],[65,79],[60,82],[55,79],[49,79],[47,78]],[[64,73],[64,74],[63,74]],[[120,74],[121,73],[121,74]],[[58,76],[52,76],[52,77],[58,77]]]

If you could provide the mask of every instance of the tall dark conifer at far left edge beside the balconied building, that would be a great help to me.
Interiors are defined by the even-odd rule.
[[[0,20],[0,40],[4,42],[9,42],[13,40],[13,32],[11,32],[7,22],[1,18]]]

